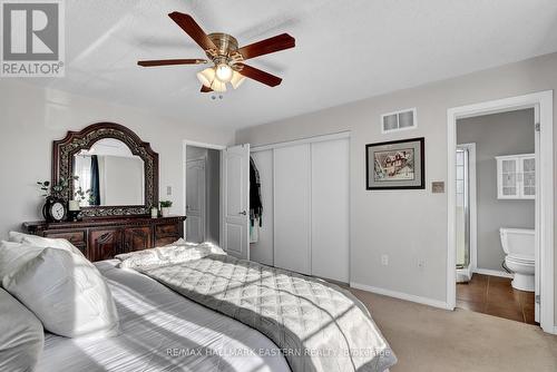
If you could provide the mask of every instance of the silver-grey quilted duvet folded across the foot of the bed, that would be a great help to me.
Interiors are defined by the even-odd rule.
[[[127,267],[260,331],[280,350],[252,352],[281,352],[293,372],[384,371],[397,363],[365,306],[325,281],[223,254]]]

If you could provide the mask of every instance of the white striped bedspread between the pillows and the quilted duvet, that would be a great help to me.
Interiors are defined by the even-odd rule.
[[[121,334],[104,340],[47,334],[38,372],[286,372],[277,346],[116,260],[96,263],[113,291]]]

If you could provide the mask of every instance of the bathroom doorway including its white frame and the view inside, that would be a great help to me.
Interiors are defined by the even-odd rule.
[[[514,116],[521,116],[515,119],[528,140],[509,126]],[[476,121],[475,138],[461,136],[465,121]],[[507,126],[497,129],[495,121]],[[448,125],[448,307],[540,324],[554,333],[553,92],[452,108]],[[476,161],[465,146],[471,143]]]

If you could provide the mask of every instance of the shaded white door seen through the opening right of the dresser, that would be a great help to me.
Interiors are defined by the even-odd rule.
[[[205,241],[205,159],[186,164],[186,241]]]

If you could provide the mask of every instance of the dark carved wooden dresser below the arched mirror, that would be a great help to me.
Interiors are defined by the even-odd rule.
[[[29,234],[68,239],[90,261],[101,261],[173,243],[184,237],[185,219],[184,216],[128,216],[61,223],[27,222],[23,229]]]

